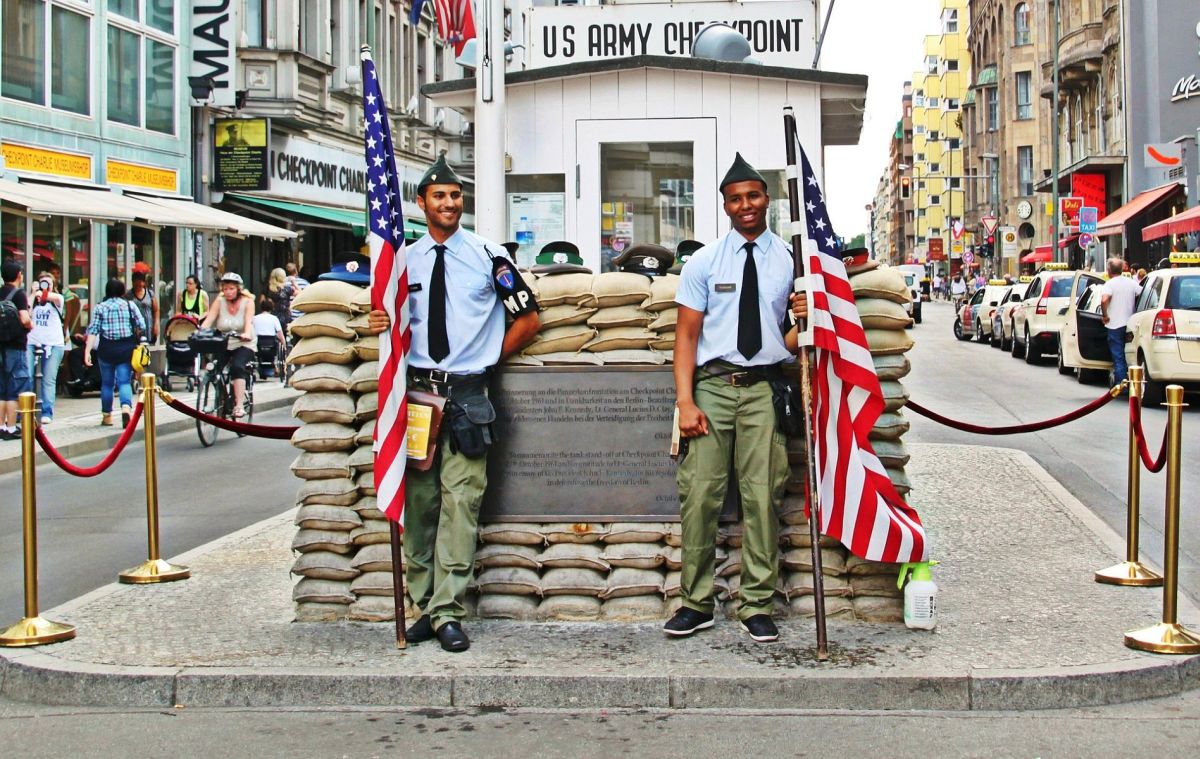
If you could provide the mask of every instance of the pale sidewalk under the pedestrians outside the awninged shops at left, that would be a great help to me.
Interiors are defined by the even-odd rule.
[[[175,392],[178,400],[196,407],[196,393],[184,389],[176,377]],[[254,413],[264,413],[272,408],[289,406],[300,394],[286,387],[277,380],[254,383]],[[137,402],[137,398],[133,399]],[[116,400],[113,408],[120,412]],[[155,405],[158,435],[169,435],[191,429],[196,422],[169,408],[162,399]],[[116,425],[121,423],[120,413],[113,414]],[[296,424],[296,423],[292,423]],[[107,452],[121,436],[120,426],[100,426],[100,393],[88,393],[83,398],[71,398],[61,393],[54,402],[54,422],[46,428],[50,443],[67,459],[89,453]],[[142,429],[133,434],[133,441],[143,438]],[[0,441],[0,474],[20,471],[20,441]]]

